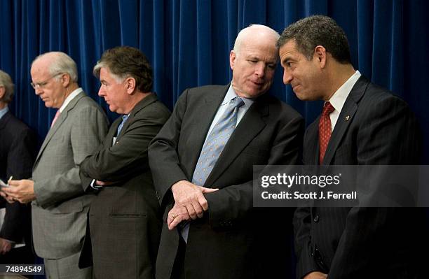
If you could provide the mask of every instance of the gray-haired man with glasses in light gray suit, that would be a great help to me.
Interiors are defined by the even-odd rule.
[[[34,250],[45,262],[47,278],[91,278],[79,269],[86,215],[93,194],[86,194],[79,165],[107,132],[107,117],[78,85],[76,63],[63,52],[34,59],[32,87],[45,106],[57,108],[34,163],[32,180],[11,180],[9,200],[32,201]]]

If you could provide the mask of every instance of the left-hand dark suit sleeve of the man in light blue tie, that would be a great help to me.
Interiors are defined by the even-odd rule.
[[[161,205],[172,201],[170,187],[173,184],[179,180],[188,180],[181,169],[177,155],[180,129],[186,112],[187,96],[188,90],[179,97],[171,117],[165,122],[164,127],[149,146],[149,164],[151,165],[156,191],[161,196]]]

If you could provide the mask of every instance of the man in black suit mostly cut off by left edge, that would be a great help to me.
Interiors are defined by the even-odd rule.
[[[0,71],[0,179],[32,176],[36,135],[9,112],[14,94],[11,77]],[[31,212],[27,204],[0,198],[0,264],[33,264]]]

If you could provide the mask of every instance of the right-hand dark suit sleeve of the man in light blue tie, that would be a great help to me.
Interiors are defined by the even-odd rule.
[[[273,137],[267,165],[297,164],[301,151],[304,120],[294,117]],[[250,165],[250,168],[252,165]],[[212,228],[240,222],[249,217],[253,207],[253,180],[231,185],[205,195],[209,204],[209,222]]]

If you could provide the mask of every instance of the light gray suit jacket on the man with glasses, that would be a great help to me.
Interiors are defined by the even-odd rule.
[[[39,257],[59,259],[81,250],[93,195],[84,194],[79,164],[100,144],[107,126],[101,108],[81,92],[43,141],[33,167],[32,227]]]

